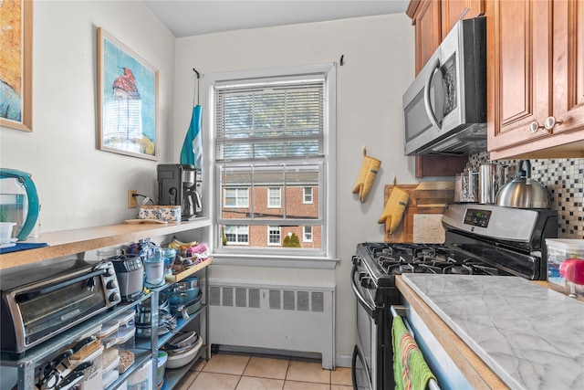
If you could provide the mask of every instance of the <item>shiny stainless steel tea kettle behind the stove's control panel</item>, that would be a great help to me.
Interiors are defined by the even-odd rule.
[[[523,169],[523,165],[526,169]],[[531,179],[531,163],[520,160],[517,177],[505,184],[496,195],[497,206],[515,208],[549,208],[549,193],[546,187]]]

